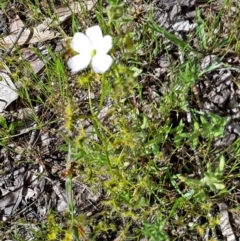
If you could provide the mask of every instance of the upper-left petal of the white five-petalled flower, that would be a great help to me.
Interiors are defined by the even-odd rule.
[[[79,54],[90,53],[92,51],[92,44],[89,38],[83,33],[75,33],[70,45],[72,49]]]

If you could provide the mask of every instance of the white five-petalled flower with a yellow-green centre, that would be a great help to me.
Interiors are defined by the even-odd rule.
[[[109,35],[103,37],[99,26],[88,28],[86,35],[75,33],[70,46],[79,53],[67,62],[72,72],[85,69],[91,62],[93,71],[102,74],[113,63],[112,57],[107,54],[112,48],[112,37]]]

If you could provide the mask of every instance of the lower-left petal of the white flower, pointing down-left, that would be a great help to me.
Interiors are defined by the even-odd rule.
[[[73,73],[87,68],[91,61],[90,54],[78,54],[70,58],[67,62],[68,67]]]

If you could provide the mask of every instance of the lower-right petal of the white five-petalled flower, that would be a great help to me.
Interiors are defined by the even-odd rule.
[[[92,68],[95,73],[103,74],[111,67],[113,59],[110,55],[95,55],[92,59]]]

